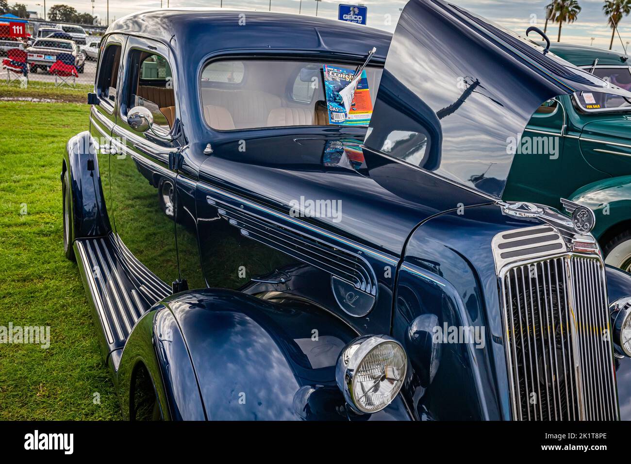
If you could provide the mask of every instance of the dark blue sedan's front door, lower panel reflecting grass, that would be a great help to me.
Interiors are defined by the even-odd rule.
[[[119,147],[110,157],[115,231],[120,242],[145,268],[172,287],[179,282],[174,222],[174,169],[170,157],[175,97],[168,49],[151,40],[129,37],[113,138]],[[153,125],[136,132],[127,121],[133,107],[153,114]]]

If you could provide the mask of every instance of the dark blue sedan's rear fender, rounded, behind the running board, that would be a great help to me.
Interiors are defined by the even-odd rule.
[[[71,237],[97,237],[111,230],[105,210],[98,159],[98,145],[88,131],[73,136],[66,144],[61,175],[68,170],[71,187]]]

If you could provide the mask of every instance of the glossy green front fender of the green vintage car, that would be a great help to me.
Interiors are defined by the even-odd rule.
[[[611,227],[631,220],[631,175],[592,182],[568,198],[596,215],[593,234],[599,241]]]

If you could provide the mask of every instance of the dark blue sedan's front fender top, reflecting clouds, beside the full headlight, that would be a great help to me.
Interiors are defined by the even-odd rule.
[[[177,320],[209,420],[409,419],[400,396],[379,413],[348,412],[335,365],[357,333],[323,309],[220,289],[163,304]]]

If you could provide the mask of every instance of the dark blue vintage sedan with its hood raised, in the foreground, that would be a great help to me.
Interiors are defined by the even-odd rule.
[[[508,138],[604,85],[440,0],[115,21],[61,181],[124,414],[631,419],[631,276],[502,199]]]

